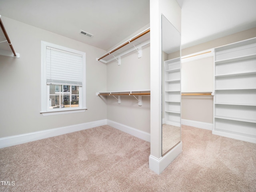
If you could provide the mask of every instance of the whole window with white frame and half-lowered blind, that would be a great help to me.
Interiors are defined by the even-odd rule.
[[[41,48],[41,113],[84,112],[85,53],[43,41]]]

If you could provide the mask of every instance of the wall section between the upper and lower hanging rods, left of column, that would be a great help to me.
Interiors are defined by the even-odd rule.
[[[128,45],[127,45],[128,46]],[[142,57],[135,50],[121,57],[121,65],[116,60],[107,65],[107,90],[150,90],[150,45],[142,47]]]

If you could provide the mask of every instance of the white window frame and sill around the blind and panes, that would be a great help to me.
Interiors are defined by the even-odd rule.
[[[79,107],[71,108],[56,108],[50,109],[50,85],[47,84],[46,78],[46,47],[50,46],[59,50],[72,52],[82,55],[82,86],[79,86]],[[63,87],[64,88],[64,87]],[[72,86],[70,86],[72,89]],[[60,91],[60,90],[59,90]],[[72,90],[70,90],[72,92]],[[49,42],[41,41],[41,111],[44,116],[55,114],[68,114],[76,112],[85,112],[86,110],[86,53],[64,46],[52,44]]]

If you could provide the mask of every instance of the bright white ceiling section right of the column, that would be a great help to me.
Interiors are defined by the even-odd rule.
[[[182,48],[256,27],[256,0],[184,0]]]

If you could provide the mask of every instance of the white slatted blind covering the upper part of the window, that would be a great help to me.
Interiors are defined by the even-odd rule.
[[[82,86],[82,55],[46,47],[47,84]]]

